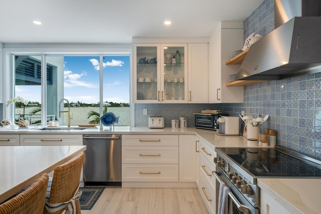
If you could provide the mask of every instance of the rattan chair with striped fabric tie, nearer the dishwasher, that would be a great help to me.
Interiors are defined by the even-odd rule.
[[[81,213],[79,183],[84,158],[85,153],[79,152],[72,160],[55,167],[50,195],[47,193],[43,213],[60,214],[69,207],[72,207],[74,211],[76,210],[74,213]],[[66,207],[66,204],[69,207]]]

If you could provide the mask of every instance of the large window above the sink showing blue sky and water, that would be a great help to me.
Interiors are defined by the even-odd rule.
[[[14,94],[28,101],[25,106],[16,103],[17,120],[24,114],[32,124],[48,125],[57,119],[59,125],[67,125],[70,109],[71,125],[98,123],[106,111],[119,116],[118,125],[130,125],[129,56],[43,56],[15,56]],[[61,116],[59,103],[65,112]]]

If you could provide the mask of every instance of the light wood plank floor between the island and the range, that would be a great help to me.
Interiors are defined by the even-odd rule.
[[[197,188],[106,187],[91,210],[82,214],[206,214]]]

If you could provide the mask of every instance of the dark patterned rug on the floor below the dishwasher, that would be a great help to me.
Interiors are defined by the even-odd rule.
[[[103,192],[105,187],[88,187],[88,188],[79,188],[82,191],[80,196],[80,208],[81,209],[91,209],[96,201],[98,200],[99,196]]]

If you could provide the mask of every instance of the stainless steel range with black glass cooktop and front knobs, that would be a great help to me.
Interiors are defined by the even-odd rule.
[[[275,148],[215,148],[217,182],[231,190],[232,213],[259,213],[257,178],[321,178],[321,161]],[[234,197],[234,198],[233,198]]]

